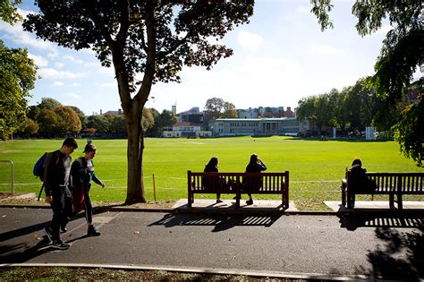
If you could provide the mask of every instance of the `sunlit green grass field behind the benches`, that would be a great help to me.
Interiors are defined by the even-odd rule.
[[[85,140],[72,158],[82,155]],[[126,140],[94,140],[98,147],[96,174],[106,188],[94,185],[94,201],[124,201],[126,196]],[[0,159],[14,163],[15,192],[38,192],[41,182],[32,167],[45,151],[58,149],[61,140],[0,142]],[[290,200],[313,206],[326,200],[340,200],[340,180],[352,158],[362,159],[368,171],[422,172],[404,158],[394,141],[309,141],[291,137],[219,139],[146,139],[144,184],[148,201],[153,201],[155,175],[157,201],[187,198],[187,170],[202,171],[210,157],[219,158],[221,172],[244,171],[250,154],[257,153],[269,172],[290,171]],[[0,163],[0,192],[10,192],[10,166]],[[197,197],[202,197],[201,195]],[[213,195],[204,195],[205,198]],[[231,199],[233,195],[224,195]],[[363,196],[368,197],[368,196]],[[258,198],[258,197],[257,197]],[[264,195],[261,199],[277,199]],[[368,198],[367,198],[368,199]],[[419,197],[411,199],[422,200]],[[408,200],[408,198],[406,199]],[[301,207],[300,207],[301,208]]]

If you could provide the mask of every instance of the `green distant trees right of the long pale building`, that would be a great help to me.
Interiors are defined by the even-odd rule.
[[[365,131],[366,126],[375,126],[379,132],[389,132],[401,120],[403,109],[417,99],[422,81],[411,85],[408,95],[394,104],[377,96],[366,79],[360,79],[353,86],[343,90],[331,90],[299,101],[296,115],[299,120],[315,124],[318,134],[325,128],[340,128],[343,135],[348,132]]]

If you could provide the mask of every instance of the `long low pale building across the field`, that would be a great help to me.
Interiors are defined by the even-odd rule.
[[[297,135],[311,130],[310,122],[295,117],[279,118],[218,118],[209,123],[214,136]]]

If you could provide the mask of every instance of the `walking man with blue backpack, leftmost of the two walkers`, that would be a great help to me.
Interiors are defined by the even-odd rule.
[[[73,150],[78,148],[77,142],[66,138],[60,150],[48,154],[45,160],[44,184],[46,202],[53,210],[50,226],[45,228],[48,239],[55,249],[66,250],[69,244],[60,239],[60,228],[66,226],[68,217],[72,214],[72,194],[69,190],[69,175],[71,170]]]

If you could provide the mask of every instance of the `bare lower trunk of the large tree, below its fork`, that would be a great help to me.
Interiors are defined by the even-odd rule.
[[[134,107],[132,107],[134,109]],[[141,111],[131,110],[127,115],[128,130],[128,175],[127,175],[127,199],[125,204],[146,202],[143,184],[143,150],[144,136],[141,128]]]

